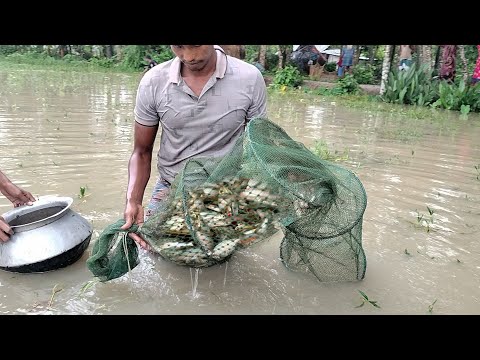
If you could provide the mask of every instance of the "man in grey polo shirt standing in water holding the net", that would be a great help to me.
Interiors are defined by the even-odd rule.
[[[266,85],[255,66],[226,55],[217,45],[171,49],[176,57],[148,71],[138,87],[124,230],[153,214],[186,160],[226,155],[249,120],[266,117]],[[142,200],[159,125],[159,177],[144,213]],[[130,237],[148,249],[140,236]]]

